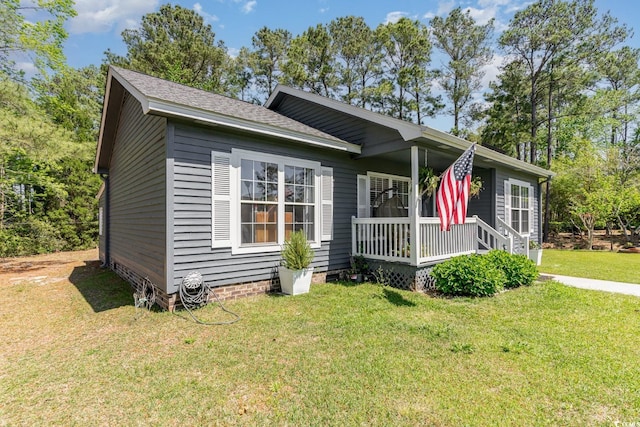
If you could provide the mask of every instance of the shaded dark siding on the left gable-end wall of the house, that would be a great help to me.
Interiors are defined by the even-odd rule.
[[[166,119],[126,95],[109,168],[109,255],[166,291]]]

